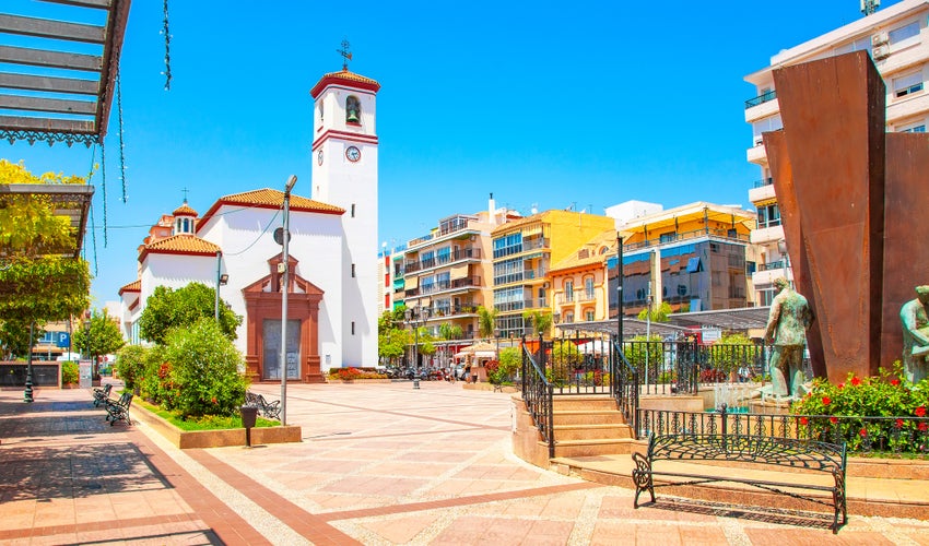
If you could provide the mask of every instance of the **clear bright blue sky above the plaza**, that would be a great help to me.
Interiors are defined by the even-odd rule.
[[[16,13],[24,0],[4,0]],[[893,3],[884,0],[883,8]],[[260,9],[256,7],[260,5]],[[531,7],[531,8],[530,8]],[[379,239],[498,205],[572,204],[602,214],[635,199],[750,207],[743,76],[771,56],[861,17],[856,0],[815,2],[172,1],[170,91],[162,2],[136,0],[122,49],[124,203],[116,109],[86,240],[94,306],[136,278],[137,247],[189,189],[283,188],[309,195],[309,90],[341,69],[377,80]],[[82,145],[0,142],[35,174],[84,175]]]

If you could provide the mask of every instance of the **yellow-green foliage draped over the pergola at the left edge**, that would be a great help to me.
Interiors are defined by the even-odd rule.
[[[37,177],[22,163],[0,159],[0,183],[85,185],[86,180],[52,173]],[[81,235],[59,212],[68,206],[40,193],[0,195],[0,322],[10,334],[28,335],[30,324],[70,320],[90,306],[87,262],[62,257]]]

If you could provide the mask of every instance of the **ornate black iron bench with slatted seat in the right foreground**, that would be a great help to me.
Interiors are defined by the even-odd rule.
[[[648,451],[645,455],[633,453],[635,470],[632,477],[635,483],[635,500],[633,506],[638,508],[638,496],[648,491],[655,502],[655,488],[663,486],[702,485],[716,482],[745,484],[778,495],[787,495],[797,499],[832,507],[832,532],[838,533],[838,527],[848,521],[845,498],[845,443],[834,444],[812,440],[792,438],[769,438],[762,436],[737,435],[649,435]],[[656,472],[656,461],[679,462],[741,462],[757,465],[775,465],[830,474],[833,485],[803,484],[755,479],[742,473],[741,466],[713,467],[707,474],[687,474],[675,472]],[[749,465],[751,466],[751,465]],[[795,475],[802,475],[797,473]],[[654,477],[661,478],[655,484]],[[813,492],[828,492],[832,502],[823,496],[813,497]],[[842,523],[838,517],[842,514]]]

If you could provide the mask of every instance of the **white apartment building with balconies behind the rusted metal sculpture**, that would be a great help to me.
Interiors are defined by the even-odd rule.
[[[886,85],[886,130],[926,132],[929,122],[929,95],[925,81],[929,74],[929,0],[904,0],[854,23],[809,41],[780,51],[771,66],[745,76],[755,86],[756,96],[745,102],[745,121],[752,126],[749,163],[759,166],[761,179],[749,190],[749,200],[757,214],[757,228],[751,241],[759,246],[759,265],[752,274],[759,305],[769,305],[774,280],[787,276],[789,249],[784,241],[777,195],[771,178],[762,134],[781,129],[777,90],[773,70],[857,50],[871,56]]]

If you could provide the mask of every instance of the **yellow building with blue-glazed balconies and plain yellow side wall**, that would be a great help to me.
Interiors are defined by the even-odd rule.
[[[491,238],[497,335],[531,333],[525,328],[522,313],[552,310],[552,264],[603,232],[614,230],[614,226],[609,216],[552,210],[495,228]]]

